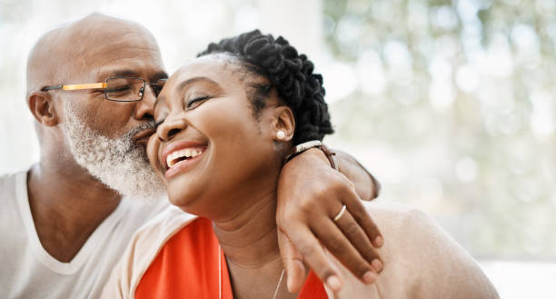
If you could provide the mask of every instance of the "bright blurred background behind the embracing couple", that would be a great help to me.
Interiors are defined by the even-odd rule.
[[[223,37],[283,35],[324,76],[325,141],[381,200],[432,214],[502,298],[556,297],[556,1],[0,0],[1,173],[38,159],[29,49],[92,12],[149,28],[169,73]]]

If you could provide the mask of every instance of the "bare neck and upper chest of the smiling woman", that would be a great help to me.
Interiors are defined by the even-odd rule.
[[[260,199],[253,200],[233,219],[213,222],[228,262],[233,293],[238,298],[272,297],[283,271],[276,231],[275,190],[253,198]],[[295,297],[286,291],[285,282],[280,293],[283,298]]]

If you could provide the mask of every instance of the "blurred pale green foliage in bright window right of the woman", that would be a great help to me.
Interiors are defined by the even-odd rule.
[[[475,255],[555,256],[556,2],[323,11],[330,54],[356,80],[333,102],[333,141],[361,149],[384,199],[431,211]]]

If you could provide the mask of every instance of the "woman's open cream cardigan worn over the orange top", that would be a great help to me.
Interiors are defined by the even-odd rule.
[[[335,295],[327,289],[329,298],[499,298],[472,256],[430,216],[402,204],[377,201],[367,206],[384,237],[379,250],[384,269],[375,284],[362,284],[331,255],[344,286]],[[114,268],[102,298],[134,298],[137,284],[165,242],[194,218],[171,207],[145,224]]]

